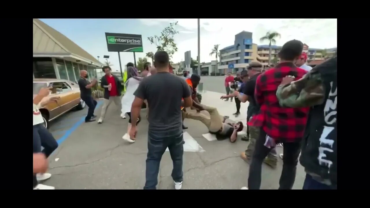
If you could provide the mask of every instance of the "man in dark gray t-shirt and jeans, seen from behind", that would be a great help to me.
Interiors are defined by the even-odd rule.
[[[131,107],[132,127],[129,132],[132,140],[136,136],[136,121],[144,100],[149,105],[148,155],[144,189],[155,189],[158,181],[159,163],[168,147],[173,161],[172,178],[175,189],[182,187],[182,137],[181,107],[190,107],[192,98],[189,86],[182,78],[169,73],[169,57],[165,51],[154,54],[157,74],[145,77],[135,91]],[[182,100],[184,99],[184,100]]]

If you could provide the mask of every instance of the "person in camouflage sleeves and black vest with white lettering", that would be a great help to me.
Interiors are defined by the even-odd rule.
[[[303,189],[337,189],[337,57],[300,80],[283,78],[276,96],[283,107],[311,107],[299,158],[306,171]]]

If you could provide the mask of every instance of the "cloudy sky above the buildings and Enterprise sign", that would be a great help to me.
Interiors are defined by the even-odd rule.
[[[145,57],[145,53],[156,51],[147,37],[159,35],[170,22],[178,21],[174,39],[178,51],[172,61],[177,63],[184,60],[185,51],[190,50],[192,58],[198,55],[197,19],[40,19],[44,23],[63,33],[92,56],[109,55],[109,61],[114,70],[119,70],[118,54],[108,52],[105,32],[141,34],[144,53],[135,53],[136,59]],[[337,47],[337,19],[201,19],[201,62],[215,60],[209,56],[213,45],[219,48],[233,45],[235,34],[241,31],[253,33],[253,43],[260,42],[259,38],[268,31],[281,34],[277,45],[282,46],[286,41],[297,39],[312,48]],[[102,58],[100,61],[103,62]],[[130,52],[121,53],[122,67],[128,62],[134,62]]]

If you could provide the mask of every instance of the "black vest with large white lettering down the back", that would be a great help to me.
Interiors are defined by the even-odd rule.
[[[317,66],[325,88],[323,104],[310,108],[300,163],[307,172],[337,186],[337,58]]]

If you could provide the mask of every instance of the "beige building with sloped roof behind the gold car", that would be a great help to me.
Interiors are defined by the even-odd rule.
[[[33,19],[33,78],[77,81],[80,70],[97,77],[97,59],[39,19]]]

